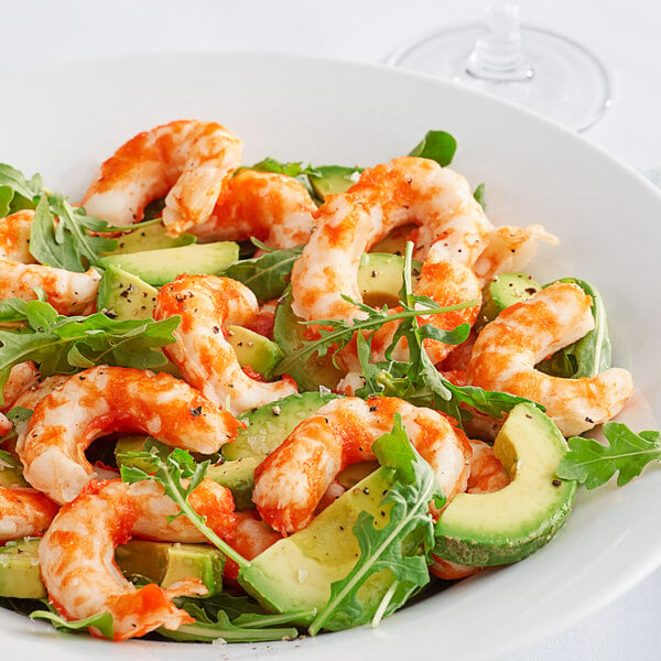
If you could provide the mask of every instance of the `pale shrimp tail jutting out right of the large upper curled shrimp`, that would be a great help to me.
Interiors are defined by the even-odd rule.
[[[487,247],[475,262],[475,274],[484,286],[498,273],[511,273],[525,268],[538,243],[557,246],[557,237],[549,234],[541,225],[529,227],[497,227],[490,234]]]

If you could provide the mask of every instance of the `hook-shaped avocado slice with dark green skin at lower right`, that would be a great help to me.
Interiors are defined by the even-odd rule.
[[[530,555],[565,522],[576,481],[560,479],[557,465],[567,444],[535,405],[514,407],[494,453],[512,481],[492,494],[459,494],[443,510],[434,553],[469,566],[510,564]]]

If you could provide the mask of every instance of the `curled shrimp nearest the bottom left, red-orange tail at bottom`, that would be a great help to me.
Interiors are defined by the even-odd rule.
[[[153,583],[137,588],[122,576],[115,564],[115,549],[130,538],[138,517],[131,485],[94,481],[59,510],[39,548],[51,603],[67,619],[109,613],[115,640],[193,622],[172,597],[207,592],[193,578],[184,581],[181,589],[175,584],[165,590]]]

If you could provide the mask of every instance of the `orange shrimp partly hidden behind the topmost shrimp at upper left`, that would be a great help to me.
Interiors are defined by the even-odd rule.
[[[192,234],[204,242],[254,237],[271,248],[294,248],[307,243],[316,208],[291,176],[241,170],[227,182],[212,217]]]

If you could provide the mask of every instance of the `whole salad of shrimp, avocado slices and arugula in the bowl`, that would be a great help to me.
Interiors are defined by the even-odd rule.
[[[159,126],[76,203],[0,164],[1,606],[117,641],[378,626],[661,456],[613,420],[596,283],[534,280],[557,238],[496,225],[449,133],[242,144]]]

